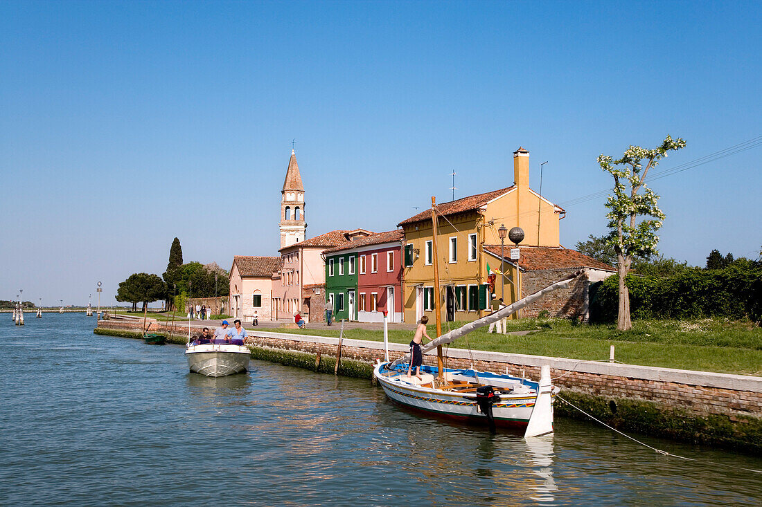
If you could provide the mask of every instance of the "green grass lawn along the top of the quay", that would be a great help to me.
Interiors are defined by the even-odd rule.
[[[449,324],[449,326],[447,325]],[[447,323],[443,333],[459,323]],[[451,346],[460,349],[514,352],[536,356],[602,361],[616,347],[617,361],[631,365],[661,366],[741,375],[762,375],[762,328],[734,320],[636,320],[632,330],[620,333],[611,325],[574,325],[563,319],[508,321],[508,331],[537,330],[526,336],[487,333],[483,327]],[[278,329],[284,333],[338,336],[337,330]],[[434,336],[434,326],[428,326]],[[351,329],[345,338],[383,340],[383,331]],[[389,341],[408,343],[412,332],[389,330]]]

